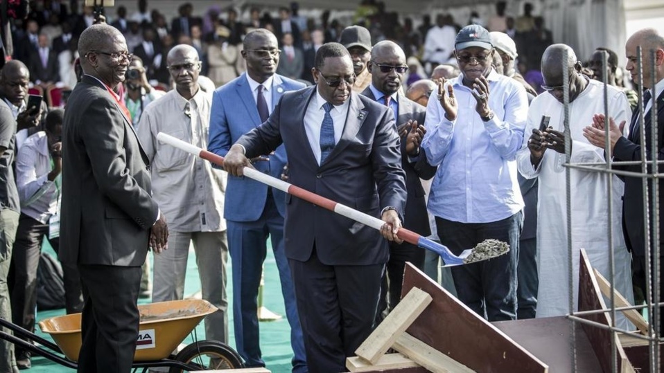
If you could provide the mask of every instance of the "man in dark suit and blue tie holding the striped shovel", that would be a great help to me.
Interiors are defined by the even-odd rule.
[[[313,87],[288,92],[263,125],[226,156],[235,176],[283,143],[294,185],[374,217],[381,233],[301,199],[286,199],[284,237],[311,372],[342,372],[372,331],[387,242],[401,242],[405,181],[394,114],[351,93],[355,75],[341,44],[316,55]],[[381,234],[383,237],[381,237]]]

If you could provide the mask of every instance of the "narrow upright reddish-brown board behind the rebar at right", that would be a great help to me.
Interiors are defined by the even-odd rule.
[[[597,278],[593,273],[590,260],[586,251],[581,249],[579,255],[579,311],[595,311],[597,309],[606,309],[604,298],[600,291],[600,285],[597,284]],[[611,317],[606,313],[594,313],[583,316],[588,320],[598,322],[604,325],[611,325]],[[618,372],[634,372],[634,367],[627,359],[618,335],[612,335],[611,331],[594,327],[592,325],[582,324],[588,340],[597,355],[597,360],[602,365],[604,372],[611,372],[611,338],[615,340],[615,349],[618,356]]]

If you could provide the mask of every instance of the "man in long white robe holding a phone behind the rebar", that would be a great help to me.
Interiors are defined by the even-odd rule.
[[[565,51],[568,54],[564,59]],[[566,62],[567,68],[563,68]],[[601,82],[589,80],[581,74],[582,65],[569,46],[554,44],[546,48],[541,71],[547,92],[541,93],[530,105],[523,146],[517,154],[518,170],[528,178],[539,179],[537,215],[537,255],[539,290],[536,316],[563,316],[568,313],[570,289],[561,286],[568,281],[568,231],[566,163],[564,132],[564,93],[568,90],[571,163],[604,163],[604,149],[590,143],[583,129],[593,122],[595,113],[604,113],[604,87]],[[565,87],[567,84],[568,87]],[[627,96],[612,86],[606,87],[609,115],[618,122],[629,120]],[[548,119],[547,119],[548,118]],[[545,122],[548,120],[548,123]],[[573,206],[573,299],[577,302],[579,249],[585,248],[593,268],[610,278],[609,224],[613,227],[614,284],[631,302],[630,258],[625,246],[621,226],[621,197],[623,183],[613,178],[613,219],[609,219],[606,203],[609,179],[599,172],[570,170]],[[600,203],[600,201],[602,201]],[[618,327],[625,328],[625,319],[618,316]]]

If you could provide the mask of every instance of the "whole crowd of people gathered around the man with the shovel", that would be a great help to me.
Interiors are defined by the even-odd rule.
[[[643,234],[641,179],[570,170],[568,232],[565,163],[567,151],[573,163],[604,163],[607,154],[639,161],[641,135],[649,159],[664,156],[664,131],[658,154],[650,144],[654,102],[664,121],[657,30],[627,40],[633,82],[637,46],[655,52],[643,60],[643,87],[627,89],[615,52],[597,46],[579,59],[553,44],[530,4],[520,17],[498,2],[487,21],[475,15],[461,27],[442,14],[413,28],[374,1],[362,1],[348,27],[329,12],[300,17],[297,3],[277,19],[250,8],[247,22],[234,8],[195,17],[185,3],[170,24],[146,0],[134,15],[119,7],[106,19],[87,7],[79,15],[77,3],[35,2],[22,23],[11,22],[13,45],[3,34],[0,317],[34,330],[48,239],[64,269],[67,313],[82,312],[80,372],[130,372],[137,300],[183,298],[190,246],[202,298],[218,308],[206,336],[228,343],[230,305],[247,367],[265,366],[257,309],[268,247],[293,372],[344,371],[399,303],[405,262],[487,320],[515,320],[568,313],[578,286],[575,276],[572,289],[561,286],[569,260],[578,273],[585,248],[609,278],[611,250],[616,289],[643,302],[646,248],[661,245]],[[30,87],[73,91],[62,109],[28,100]],[[159,142],[160,132],[224,156],[224,166]],[[335,215],[248,179],[244,167],[385,224],[378,231]],[[440,269],[437,255],[402,242],[401,227],[457,254],[484,239],[510,251]],[[630,327],[622,317],[618,325]],[[0,371],[28,369],[30,358],[0,343]]]

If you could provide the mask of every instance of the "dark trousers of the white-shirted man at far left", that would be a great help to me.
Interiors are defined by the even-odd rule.
[[[42,239],[49,235],[49,224],[21,214],[12,255],[12,320],[29,331],[35,331],[35,307],[37,305],[37,267],[42,253]],[[49,239],[58,253],[60,239]],[[67,313],[77,313],[83,308],[80,279],[76,265],[62,264]]]

